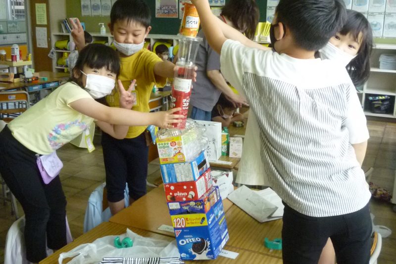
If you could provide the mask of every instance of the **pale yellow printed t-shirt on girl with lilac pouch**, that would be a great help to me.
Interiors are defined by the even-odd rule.
[[[80,135],[94,121],[69,106],[83,98],[94,100],[87,91],[67,82],[12,120],[8,128],[29,150],[50,154]]]

